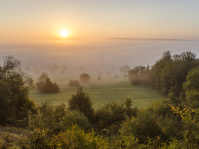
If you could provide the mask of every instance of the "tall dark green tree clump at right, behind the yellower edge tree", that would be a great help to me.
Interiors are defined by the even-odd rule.
[[[176,97],[184,99],[183,83],[190,70],[199,64],[196,55],[191,52],[183,52],[171,56],[167,51],[151,69],[151,85],[160,93],[171,95],[171,101],[176,102]]]

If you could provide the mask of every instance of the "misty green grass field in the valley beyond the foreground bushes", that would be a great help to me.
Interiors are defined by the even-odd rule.
[[[55,105],[60,103],[67,105],[68,100],[76,90],[77,88],[69,87],[68,85],[62,85],[60,93],[56,94],[41,94],[37,90],[33,90],[30,92],[30,98],[37,104],[49,101]],[[127,97],[131,97],[133,99],[133,106],[138,108],[146,107],[153,101],[166,99],[150,87],[141,85],[133,86],[127,81],[110,84],[84,84],[83,90],[89,94],[95,109],[113,101],[122,103]]]

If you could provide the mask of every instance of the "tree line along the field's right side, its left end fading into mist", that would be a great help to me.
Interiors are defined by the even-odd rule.
[[[183,52],[171,56],[170,51],[151,66],[137,66],[128,71],[132,84],[147,84],[159,93],[169,97],[172,103],[180,104],[189,101],[192,106],[198,106],[196,85],[199,59],[191,52]],[[195,80],[195,81],[194,81]],[[195,97],[194,97],[195,96]]]

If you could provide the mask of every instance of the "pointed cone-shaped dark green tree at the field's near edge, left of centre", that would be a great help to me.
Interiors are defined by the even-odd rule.
[[[89,120],[93,119],[94,109],[92,107],[91,99],[86,92],[83,92],[82,87],[78,87],[77,92],[72,95],[71,99],[69,99],[68,105],[70,110],[78,110],[81,113],[84,113]]]

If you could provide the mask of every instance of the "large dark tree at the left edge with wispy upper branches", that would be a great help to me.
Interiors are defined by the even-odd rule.
[[[0,66],[0,124],[26,125],[36,107],[29,99],[33,80],[20,69],[20,61],[7,56]]]

